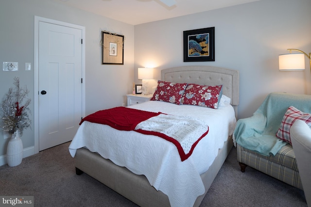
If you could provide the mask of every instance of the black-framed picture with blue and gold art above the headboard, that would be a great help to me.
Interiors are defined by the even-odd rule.
[[[215,61],[215,27],[184,31],[184,62]]]

